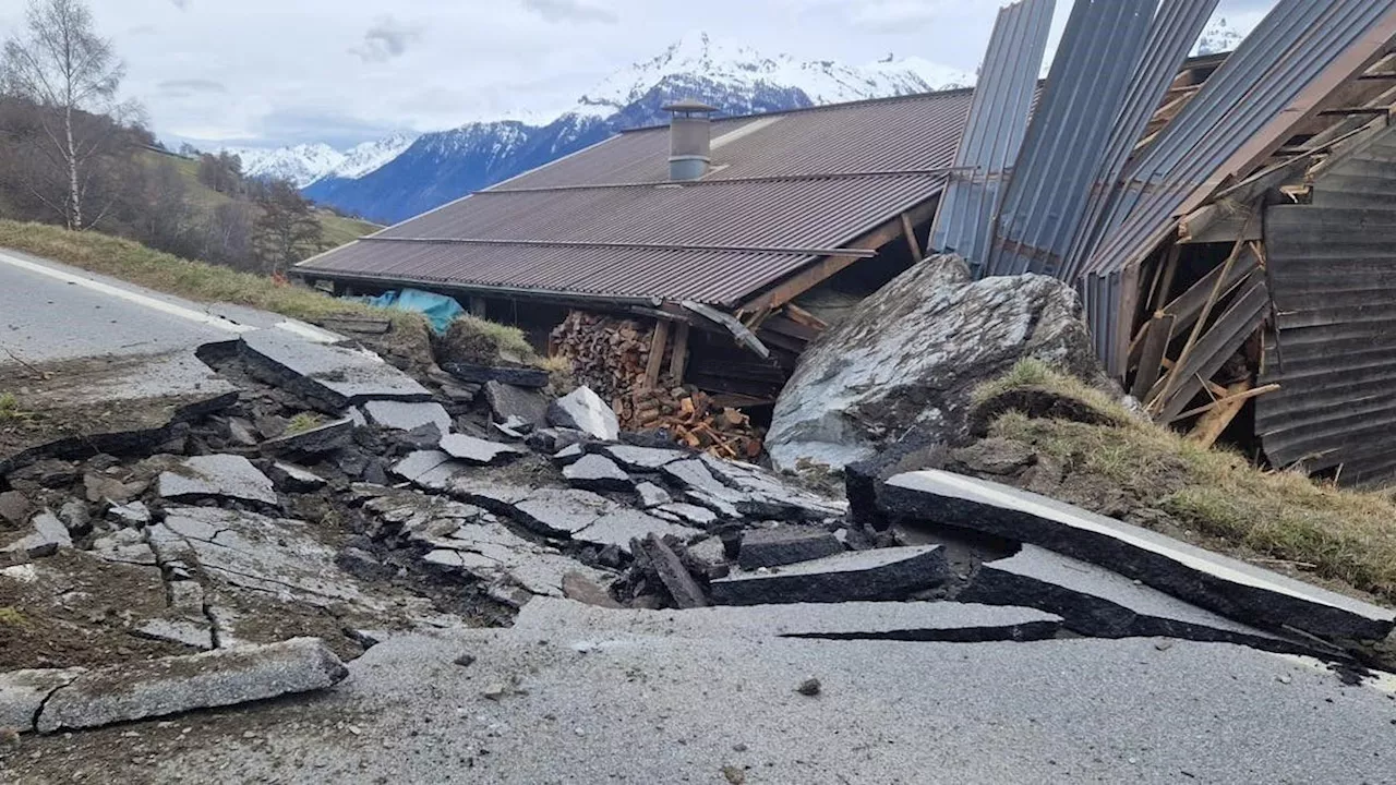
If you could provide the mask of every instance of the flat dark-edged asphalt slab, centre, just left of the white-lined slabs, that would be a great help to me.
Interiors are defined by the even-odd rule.
[[[716,605],[905,599],[949,577],[940,545],[882,548],[801,562],[769,573],[738,573],[712,581]]]

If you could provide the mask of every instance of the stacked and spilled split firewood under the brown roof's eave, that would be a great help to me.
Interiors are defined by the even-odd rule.
[[[625,430],[664,430],[674,441],[725,458],[761,454],[761,433],[751,419],[719,406],[706,392],[680,386],[669,376],[655,384],[646,370],[669,367],[673,344],[651,363],[655,323],[574,310],[551,332],[550,353],[567,358],[578,384],[610,401]]]

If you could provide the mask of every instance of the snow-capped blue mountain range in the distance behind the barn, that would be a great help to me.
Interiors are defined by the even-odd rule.
[[[1226,20],[1215,20],[1198,53],[1234,49],[1241,38]],[[664,123],[659,108],[683,98],[711,103],[722,115],[750,115],[973,82],[973,74],[920,57],[889,56],[854,67],[766,56],[698,32],[603,80],[549,123],[477,122],[422,135],[395,134],[348,151],[324,144],[232,151],[250,176],[288,179],[317,203],[395,223],[624,129]]]

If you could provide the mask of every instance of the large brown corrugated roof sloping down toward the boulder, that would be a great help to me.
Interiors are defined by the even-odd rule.
[[[669,131],[616,135],[321,254],[306,274],[733,306],[945,183],[970,91],[715,120],[669,183]]]

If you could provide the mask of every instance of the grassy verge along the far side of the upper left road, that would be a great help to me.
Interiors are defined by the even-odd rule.
[[[190,261],[99,232],[68,232],[46,223],[0,219],[0,247],[32,253],[191,300],[248,306],[306,321],[345,313],[394,320],[420,318],[403,311],[338,300],[306,286],[276,284],[271,278],[216,264]]]

